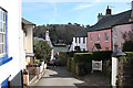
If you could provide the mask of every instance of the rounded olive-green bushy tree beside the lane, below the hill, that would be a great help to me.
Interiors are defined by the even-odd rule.
[[[44,41],[39,41],[35,45],[34,53],[37,59],[50,59],[51,56],[51,47],[50,45]]]

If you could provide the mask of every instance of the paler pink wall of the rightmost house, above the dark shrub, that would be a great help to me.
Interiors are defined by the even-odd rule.
[[[124,43],[122,35],[123,33],[131,31],[132,26],[133,24],[123,24],[123,25],[116,25],[113,28],[113,36],[112,36],[113,37],[113,52],[116,51],[116,47],[117,50],[122,51],[122,46]],[[114,37],[115,29],[116,29],[116,37]]]

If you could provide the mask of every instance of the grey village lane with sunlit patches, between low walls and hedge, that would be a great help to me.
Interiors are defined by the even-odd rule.
[[[49,67],[43,77],[34,85],[34,87],[43,88],[81,88],[85,85],[69,74],[65,67]]]

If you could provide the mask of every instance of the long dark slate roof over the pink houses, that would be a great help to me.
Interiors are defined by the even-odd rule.
[[[131,19],[131,12],[132,10],[129,10],[119,14],[104,16],[95,25],[90,26],[88,32],[108,30],[116,24],[129,23],[129,20]]]

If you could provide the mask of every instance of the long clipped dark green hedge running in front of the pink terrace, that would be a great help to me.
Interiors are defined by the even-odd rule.
[[[72,55],[73,54],[73,55]],[[112,51],[102,51],[102,52],[92,52],[92,53],[68,53],[72,57],[71,59],[71,73],[75,75],[80,75],[76,73],[79,64],[82,64],[83,67],[81,70],[83,70],[85,74],[91,73],[91,65],[92,59],[94,61],[108,61],[112,56]],[[76,68],[78,67],[78,68]]]

